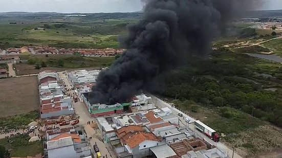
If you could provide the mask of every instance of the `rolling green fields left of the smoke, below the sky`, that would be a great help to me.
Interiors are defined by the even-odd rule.
[[[119,48],[118,36],[126,33],[128,24],[137,21],[134,15],[90,14],[87,17],[72,17],[70,21],[63,20],[65,17],[61,14],[52,17],[52,20],[46,15],[37,20],[30,18],[34,15],[27,18],[4,18],[0,20],[0,48],[28,45]],[[16,24],[9,24],[9,20]]]

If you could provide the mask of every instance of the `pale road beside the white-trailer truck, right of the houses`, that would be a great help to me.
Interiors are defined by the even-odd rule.
[[[172,113],[177,115],[179,113],[181,113],[184,117],[179,117],[179,120],[180,120],[180,125],[181,126],[186,126],[189,128],[190,131],[193,131],[193,133],[202,138],[202,139],[205,139],[207,142],[209,142],[210,144],[218,147],[219,149],[223,150],[225,153],[227,153],[230,157],[232,157],[232,150],[229,149],[227,146],[225,146],[224,144],[222,144],[221,142],[214,142],[212,141],[211,139],[209,139],[207,136],[205,136],[203,133],[201,133],[200,131],[198,130],[195,130],[194,128],[194,125],[193,124],[187,124],[186,121],[185,121],[185,118],[186,117],[189,117],[187,116],[186,114],[184,114],[182,111],[178,110],[177,108],[175,107],[172,107],[170,104],[162,101],[161,99],[151,95],[151,98],[152,98],[152,101],[156,104],[156,106],[158,108],[162,108],[162,107],[169,107],[171,110],[172,110]],[[187,126],[188,125],[188,126]],[[242,156],[238,155],[236,152],[234,152],[234,158],[242,158]]]

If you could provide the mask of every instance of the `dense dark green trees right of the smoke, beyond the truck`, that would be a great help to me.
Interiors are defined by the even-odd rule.
[[[194,62],[198,62],[197,66],[189,65],[166,75],[165,90],[157,93],[169,98],[177,95],[180,100],[208,107],[233,107],[282,127],[282,90],[265,91],[260,85],[236,77],[253,73],[244,64],[251,61],[242,58],[239,63],[237,60]]]

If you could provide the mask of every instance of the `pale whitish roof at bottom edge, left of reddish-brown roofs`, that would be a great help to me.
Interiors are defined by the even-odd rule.
[[[150,150],[153,151],[158,158],[176,155],[176,153],[166,144],[150,148]]]

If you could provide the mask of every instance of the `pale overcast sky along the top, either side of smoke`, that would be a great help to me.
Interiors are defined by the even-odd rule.
[[[282,0],[264,0],[259,10],[282,9]],[[134,12],[142,10],[141,0],[0,0],[0,12]]]

